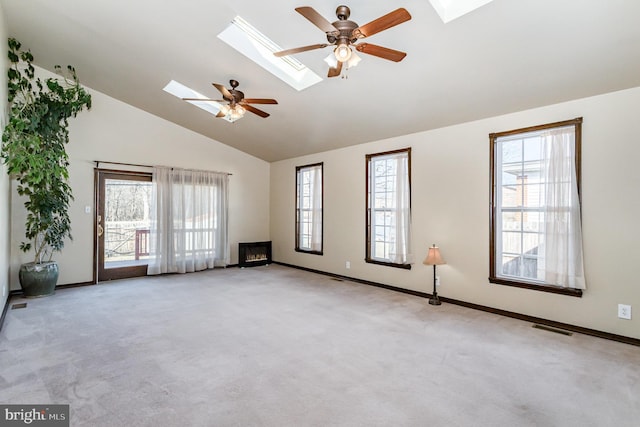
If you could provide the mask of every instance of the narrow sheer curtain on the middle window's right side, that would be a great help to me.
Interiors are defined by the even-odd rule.
[[[411,188],[409,186],[409,154],[407,152],[393,154],[396,162],[395,177],[395,242],[389,253],[391,262],[396,264],[413,263],[411,253]]]

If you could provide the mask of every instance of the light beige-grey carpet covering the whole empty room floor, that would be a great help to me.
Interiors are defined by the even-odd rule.
[[[271,265],[22,300],[0,402],[72,426],[637,426],[640,348]]]

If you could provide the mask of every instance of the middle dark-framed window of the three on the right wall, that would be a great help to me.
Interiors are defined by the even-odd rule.
[[[411,148],[367,154],[366,262],[411,268]]]

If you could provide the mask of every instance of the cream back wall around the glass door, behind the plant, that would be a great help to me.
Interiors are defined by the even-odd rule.
[[[37,71],[44,77],[51,76],[45,70]],[[78,70],[78,74],[82,79],[82,70]],[[238,262],[238,242],[269,240],[269,163],[100,92],[90,92],[92,109],[69,122],[67,151],[75,197],[70,209],[74,239],[55,255],[60,266],[58,284],[84,283],[93,278],[94,160],[232,173],[229,189],[231,263]],[[167,102],[175,102],[175,98],[167,94]],[[112,166],[101,164],[100,167]],[[15,197],[11,213],[11,288],[20,289],[18,270],[21,263],[31,261],[31,254],[18,249],[24,239],[26,212],[23,201]],[[85,213],[85,206],[91,207],[91,214]]]

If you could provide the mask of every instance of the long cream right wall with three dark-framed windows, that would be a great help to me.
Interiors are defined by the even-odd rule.
[[[640,338],[638,111],[635,88],[272,163],[274,259],[430,293],[432,268],[422,260],[435,243],[448,262],[438,268],[442,296]],[[489,133],[575,117],[584,117],[588,289],[576,298],[489,284]],[[364,262],[365,155],[404,147],[412,147],[413,169],[416,263],[409,271]],[[295,167],[315,162],[324,162],[323,256],[294,251]],[[635,307],[633,320],[617,318],[618,303]]]

